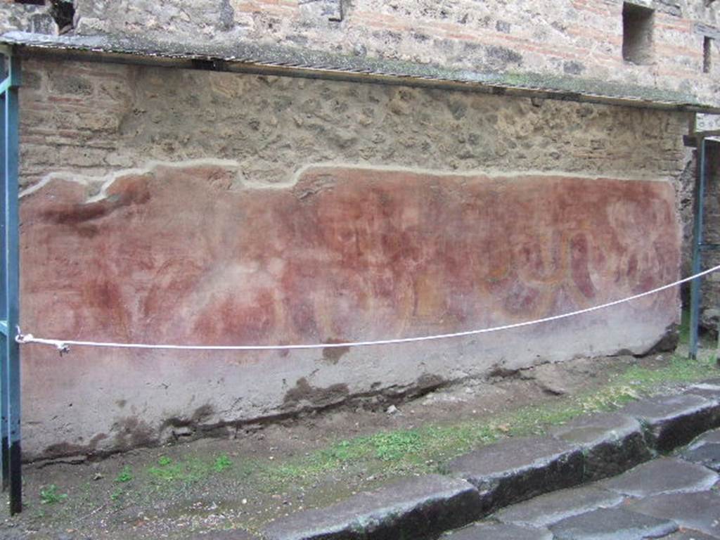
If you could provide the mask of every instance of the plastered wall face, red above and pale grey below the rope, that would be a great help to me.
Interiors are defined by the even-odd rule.
[[[94,198],[95,184],[60,178],[25,196],[23,329],[208,345],[370,340],[541,318],[678,277],[675,193],[665,182],[317,167],[291,186],[255,189],[236,176],[233,166],[156,166],[117,176]],[[76,396],[73,421],[82,424],[67,430],[72,436],[31,429],[30,446],[33,436],[39,453],[151,441],[166,418],[189,418],[199,406],[210,407],[211,423],[269,415],[288,406],[285,386],[313,366],[329,373],[324,386],[344,384],[346,395],[421,373],[451,379],[463,363],[482,372],[541,356],[642,350],[675,322],[677,300],[668,291],[480,343],[430,343],[422,354],[402,346],[328,349],[320,359],[75,348],[58,359],[51,349],[27,346],[30,418],[47,425],[55,406],[48,398],[66,410]],[[454,349],[461,346],[464,352]],[[433,347],[444,356],[432,360]],[[420,367],[426,356],[429,367]],[[384,365],[387,379],[379,378],[379,364],[364,379],[366,362]],[[261,381],[243,372],[251,365]],[[224,379],[195,384],[208,373]],[[178,402],[183,390],[158,397],[143,387],[153,377],[186,385],[193,400]],[[254,407],[220,403],[258,389]],[[145,440],[127,438],[132,418]]]

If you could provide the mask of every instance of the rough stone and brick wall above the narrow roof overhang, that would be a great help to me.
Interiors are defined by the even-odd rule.
[[[642,60],[624,59],[624,4],[654,10]],[[10,23],[4,30],[24,30]],[[720,104],[718,6],[704,1],[77,0],[75,23],[78,35],[130,35],[187,50],[282,45],[513,74],[516,83],[540,73],[576,79],[590,92],[593,80],[639,84]],[[703,73],[706,37],[714,42]]]

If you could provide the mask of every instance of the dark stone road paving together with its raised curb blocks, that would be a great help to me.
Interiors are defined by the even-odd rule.
[[[576,418],[545,437],[481,447],[444,464],[441,474],[280,518],[262,537],[720,539],[719,469],[715,379]]]

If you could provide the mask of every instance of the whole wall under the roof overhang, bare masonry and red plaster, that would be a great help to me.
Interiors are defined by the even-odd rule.
[[[678,112],[26,60],[22,328],[336,343],[596,305],[680,267]],[[125,449],[573,356],[678,297],[514,333],[266,353],[23,348],[29,459]]]

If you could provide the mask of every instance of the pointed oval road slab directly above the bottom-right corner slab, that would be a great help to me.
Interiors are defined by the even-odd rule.
[[[650,497],[663,493],[709,490],[718,480],[710,469],[681,459],[660,458],[638,465],[618,477],[598,482],[598,486],[630,495]]]

